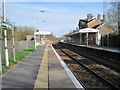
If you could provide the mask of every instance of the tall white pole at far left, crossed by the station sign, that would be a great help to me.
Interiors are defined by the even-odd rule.
[[[3,0],[3,22],[6,22],[6,3],[5,0]],[[9,66],[9,59],[8,59],[8,46],[7,46],[7,30],[6,27],[4,27],[4,48],[5,48],[5,62],[6,66]]]

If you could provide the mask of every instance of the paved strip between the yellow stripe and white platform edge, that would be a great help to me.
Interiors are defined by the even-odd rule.
[[[48,47],[48,60],[49,60],[49,88],[50,89],[74,89],[76,88],[57,56],[55,55],[52,47]]]

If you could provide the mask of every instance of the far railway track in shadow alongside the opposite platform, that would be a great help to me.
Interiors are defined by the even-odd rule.
[[[97,52],[99,52],[99,50],[96,50],[95,52],[96,53],[93,53],[94,52],[94,50],[92,51],[92,52],[90,52],[90,50],[92,50],[92,49],[86,49],[85,47],[84,47],[84,49],[77,49],[77,48],[79,48],[78,46],[70,46],[70,45],[62,45],[61,43],[59,43],[59,45],[61,46],[61,47],[64,47],[64,48],[67,48],[67,49],[70,49],[70,50],[72,50],[73,52],[76,52],[77,54],[79,54],[79,55],[82,55],[82,56],[84,56],[84,57],[86,57],[86,58],[89,58],[89,59],[92,59],[92,60],[94,60],[95,62],[97,62],[97,63],[100,63],[100,64],[102,64],[102,65],[104,65],[104,66],[107,66],[107,67],[109,67],[109,68],[111,68],[111,69],[113,69],[113,70],[115,70],[115,71],[117,71],[117,72],[119,72],[120,73],[120,61],[119,61],[119,57],[115,60],[115,59],[111,59],[111,58],[109,58],[109,57],[111,57],[112,56],[112,54],[111,55],[108,55],[108,57],[103,57],[103,56],[101,56],[101,55],[99,55],[99,54],[101,54],[101,53],[97,53]],[[104,53],[104,52],[102,52],[103,54],[105,54],[106,55],[106,53]],[[92,57],[91,57],[92,56]],[[117,55],[118,56],[118,55]],[[116,56],[115,56],[116,57]]]

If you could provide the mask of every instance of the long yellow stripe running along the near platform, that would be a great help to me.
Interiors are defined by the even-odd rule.
[[[48,89],[48,45],[45,48],[37,79],[34,84],[34,90],[36,88]]]

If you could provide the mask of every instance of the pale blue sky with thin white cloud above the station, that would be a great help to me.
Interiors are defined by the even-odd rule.
[[[92,13],[95,18],[97,14],[103,15],[103,2],[7,2],[6,4],[7,18],[11,22],[16,22],[16,26],[34,26],[35,16],[37,29],[51,31],[57,37],[75,29],[79,19],[86,18],[88,13]],[[43,10],[44,13],[40,12]]]

